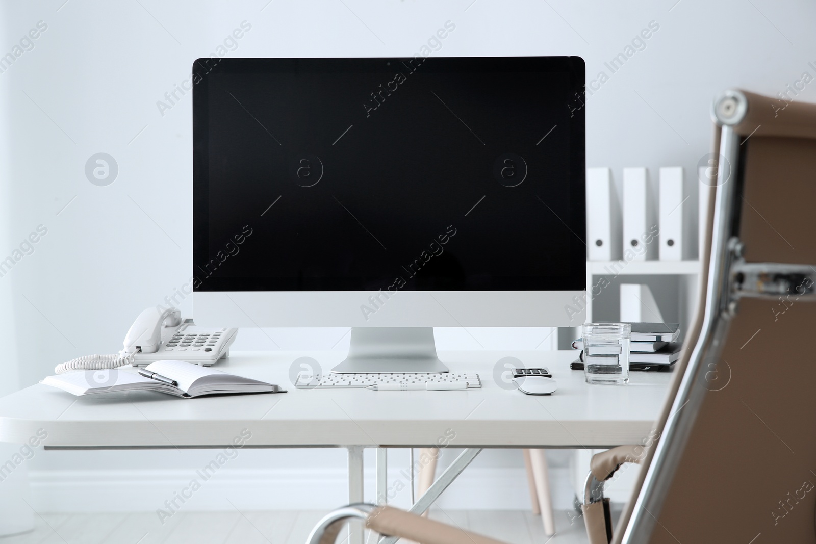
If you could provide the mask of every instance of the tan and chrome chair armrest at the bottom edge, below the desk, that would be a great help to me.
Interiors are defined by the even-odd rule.
[[[370,504],[344,506],[326,515],[312,530],[308,544],[333,544],[349,519],[363,519],[366,529],[389,537],[408,538],[418,544],[505,544],[397,508]]]

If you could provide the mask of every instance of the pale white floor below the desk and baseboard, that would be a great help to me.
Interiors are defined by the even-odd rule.
[[[0,544],[304,544],[309,531],[324,514],[322,511],[182,511],[164,524],[150,512],[41,514],[37,516],[33,532],[0,537]],[[431,517],[508,544],[588,542],[583,518],[575,517],[571,511],[556,512],[557,534],[549,540],[544,537],[541,518],[529,511],[442,511],[437,507]]]

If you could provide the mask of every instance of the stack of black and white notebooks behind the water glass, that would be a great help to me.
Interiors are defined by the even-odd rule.
[[[680,359],[683,344],[678,323],[630,323],[632,341],[629,343],[629,369],[660,370],[671,368]],[[583,369],[583,338],[572,343],[582,350],[579,360],[570,368]]]

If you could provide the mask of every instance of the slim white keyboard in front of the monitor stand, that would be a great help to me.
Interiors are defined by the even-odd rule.
[[[394,374],[352,373],[352,374],[317,374],[308,376],[301,374],[297,389],[363,389],[381,383],[405,384],[459,384],[467,383],[468,389],[481,387],[479,374],[464,374],[455,372],[406,372]]]

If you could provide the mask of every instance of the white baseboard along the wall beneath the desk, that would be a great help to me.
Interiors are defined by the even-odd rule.
[[[195,470],[49,470],[29,471],[29,476],[37,511],[232,510],[230,502],[241,510],[318,510],[348,503],[346,471],[332,468],[223,468],[215,475]],[[374,480],[374,472],[366,471],[368,502],[375,500]],[[399,471],[389,471],[389,502],[394,506],[410,505],[408,481]],[[550,482],[554,506],[571,508],[574,492],[568,469],[552,468]],[[528,510],[526,473],[523,468],[468,468],[438,504],[450,509]]]

